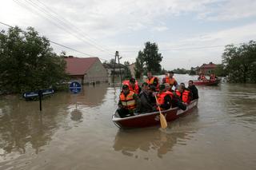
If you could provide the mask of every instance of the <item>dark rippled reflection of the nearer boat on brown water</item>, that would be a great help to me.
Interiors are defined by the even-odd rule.
[[[115,136],[113,148],[115,151],[122,152],[123,155],[135,158],[138,158],[138,150],[143,152],[153,150],[157,152],[159,158],[162,158],[175,144],[186,145],[187,140],[193,137],[197,129],[191,125],[196,124],[197,121],[198,110],[194,109],[191,115],[169,123],[169,128],[166,130],[161,128],[121,129]]]

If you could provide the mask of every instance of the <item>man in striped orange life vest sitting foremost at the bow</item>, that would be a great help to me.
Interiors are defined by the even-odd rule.
[[[140,99],[136,93],[129,89],[128,85],[122,85],[122,91],[119,96],[118,114],[120,117],[134,116],[134,111],[140,110]]]

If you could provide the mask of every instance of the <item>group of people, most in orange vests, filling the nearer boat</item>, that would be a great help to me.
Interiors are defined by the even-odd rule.
[[[184,83],[178,85],[173,72],[166,73],[161,83],[151,72],[147,73],[146,81],[141,86],[134,78],[123,81],[117,112],[120,117],[130,117],[158,109],[178,107],[185,110],[190,101],[198,99],[198,89],[193,81],[188,84],[187,88]]]

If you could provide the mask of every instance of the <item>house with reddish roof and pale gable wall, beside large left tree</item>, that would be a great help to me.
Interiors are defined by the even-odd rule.
[[[108,73],[98,57],[65,57],[66,73],[82,84],[107,82]]]

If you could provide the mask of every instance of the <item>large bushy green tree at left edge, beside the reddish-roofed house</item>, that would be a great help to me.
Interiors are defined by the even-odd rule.
[[[66,81],[66,61],[53,53],[50,42],[29,27],[0,33],[0,88],[6,93],[55,87]]]

